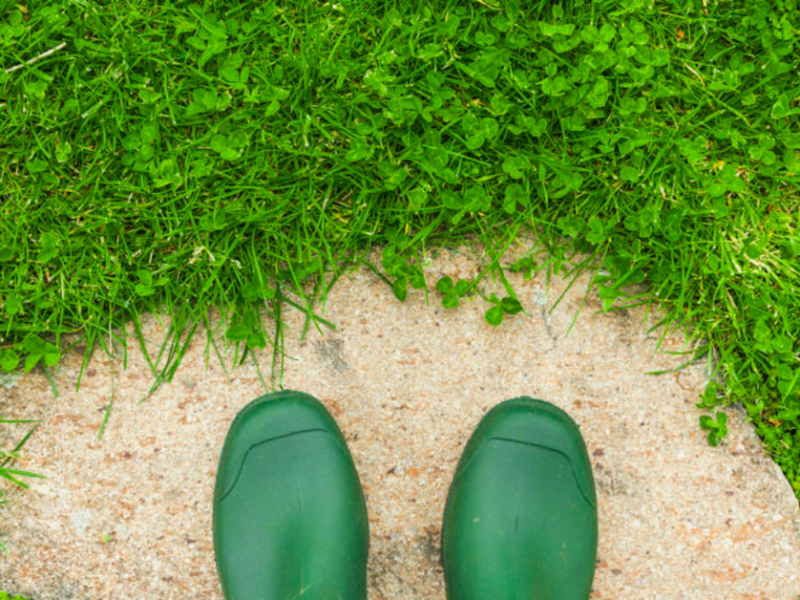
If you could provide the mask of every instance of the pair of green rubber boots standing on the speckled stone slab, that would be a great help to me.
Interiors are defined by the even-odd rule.
[[[227,600],[366,600],[369,526],[353,460],[325,407],[268,394],[236,416],[214,492]],[[442,526],[449,600],[586,600],[597,554],[591,463],[554,405],[507,400],[472,434]]]

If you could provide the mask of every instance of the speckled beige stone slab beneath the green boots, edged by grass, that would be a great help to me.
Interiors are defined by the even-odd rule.
[[[432,257],[429,287],[444,274],[474,276],[473,251]],[[797,501],[738,410],[725,442],[706,444],[694,406],[706,365],[647,375],[681,357],[655,353],[660,331],[648,331],[655,321],[644,309],[603,314],[594,294],[565,337],[588,276],[552,313],[568,281],[509,280],[527,314],[499,328],[485,323],[483,300],[445,310],[435,291],[426,304],[414,290],[400,304],[366,268],[328,296],[321,314],[336,331],[312,326],[301,341],[304,315],[284,315],[283,387],[328,407],[365,488],[371,600],[444,600],[440,525],[456,463],[481,416],[519,395],[561,406],[586,439],[600,518],[592,598],[795,600]],[[146,319],[154,356],[165,333]],[[79,392],[82,355],[67,356],[58,399],[39,369],[0,382],[0,414],[43,419],[19,466],[48,477],[12,491],[0,511],[10,550],[0,556],[0,589],[34,600],[221,600],[214,476],[228,426],[264,393],[262,380],[249,359],[232,370],[233,350],[220,340],[223,369],[201,328],[173,381],[139,404],[153,376],[133,340],[127,370],[96,352]],[[680,336],[664,338],[662,349],[681,348]],[[270,347],[258,356],[269,385]]]

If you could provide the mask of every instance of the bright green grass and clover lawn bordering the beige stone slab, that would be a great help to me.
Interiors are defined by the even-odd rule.
[[[800,497],[798,40],[795,0],[0,0],[0,367],[85,367],[130,321],[144,350],[163,307],[152,392],[221,307],[279,374],[281,311],[332,325],[372,247],[403,300],[427,245],[502,275],[533,229],[510,268],[662,306],[717,365],[709,442],[741,403]]]

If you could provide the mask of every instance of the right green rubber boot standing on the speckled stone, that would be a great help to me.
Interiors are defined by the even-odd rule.
[[[442,525],[449,600],[587,600],[597,499],[586,445],[532,398],[490,410],[456,469]]]

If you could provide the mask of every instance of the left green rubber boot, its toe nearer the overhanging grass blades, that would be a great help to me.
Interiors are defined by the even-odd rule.
[[[227,600],[366,600],[367,506],[333,417],[283,391],[231,425],[214,489],[214,551]]]

